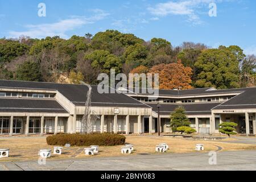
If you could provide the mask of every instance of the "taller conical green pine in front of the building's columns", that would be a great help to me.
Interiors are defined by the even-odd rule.
[[[190,126],[191,122],[189,121],[187,115],[185,114],[185,109],[182,106],[177,107],[174,110],[174,113],[171,114],[171,127],[172,132],[177,131],[177,127],[180,126]]]

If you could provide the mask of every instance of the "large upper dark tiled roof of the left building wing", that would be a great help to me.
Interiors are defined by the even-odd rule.
[[[27,82],[27,81],[7,81],[0,80],[0,88],[31,88],[31,89],[46,89],[58,90],[63,96],[77,106],[85,105],[86,94],[88,87],[86,85],[73,85],[73,84],[56,84],[49,82]],[[110,88],[109,88],[110,90]],[[112,89],[113,90],[113,89]],[[100,94],[97,91],[97,86],[92,85],[92,106],[94,103],[106,104],[109,106],[130,106],[138,105],[139,107],[148,107],[141,102],[126,96],[122,93],[109,93]],[[98,106],[95,104],[95,106]]]

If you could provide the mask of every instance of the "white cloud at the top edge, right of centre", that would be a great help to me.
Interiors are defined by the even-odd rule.
[[[230,1],[230,0],[229,0]],[[207,7],[212,2],[222,2],[222,0],[180,0],[158,3],[155,7],[148,7],[151,14],[156,16],[183,15],[193,24],[202,23],[197,10]]]

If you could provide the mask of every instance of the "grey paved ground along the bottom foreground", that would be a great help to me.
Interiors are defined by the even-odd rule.
[[[205,153],[133,155],[108,158],[0,162],[0,170],[255,170],[256,151],[217,152],[217,165]]]

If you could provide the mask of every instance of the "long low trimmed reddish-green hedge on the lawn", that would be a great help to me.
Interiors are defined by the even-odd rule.
[[[119,134],[58,134],[46,138],[50,146],[117,146],[125,144],[125,136]]]

